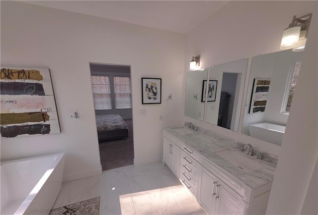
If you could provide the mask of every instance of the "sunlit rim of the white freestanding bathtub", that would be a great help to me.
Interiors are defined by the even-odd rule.
[[[13,215],[22,215],[28,209],[28,207],[32,203],[33,199],[35,198],[36,194],[40,191],[40,189],[43,187],[45,182],[48,180],[48,178],[50,177],[50,175],[54,171],[55,167],[60,163],[60,161],[65,159],[65,153],[58,153],[58,154],[52,154],[52,155],[44,155],[44,156],[38,156],[38,157],[30,157],[30,158],[25,158],[25,159],[0,162],[0,164],[2,166],[4,164],[9,164],[9,163],[14,163],[14,162],[31,161],[31,160],[38,160],[41,158],[50,158],[50,157],[57,157],[57,159],[51,163],[51,165],[48,167],[46,172],[37,181],[36,185],[32,188],[30,193],[25,197],[25,199],[23,200],[21,205],[16,209],[16,211],[14,212]],[[35,195],[33,195],[33,194],[35,194]]]

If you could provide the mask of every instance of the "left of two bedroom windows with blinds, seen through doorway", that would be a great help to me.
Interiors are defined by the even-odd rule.
[[[91,76],[95,110],[111,109],[109,76]]]

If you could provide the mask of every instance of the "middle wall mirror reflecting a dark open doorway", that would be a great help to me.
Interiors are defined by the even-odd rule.
[[[212,99],[207,100],[206,122],[239,130],[247,62],[248,59],[242,59],[210,67],[209,91],[212,91]]]

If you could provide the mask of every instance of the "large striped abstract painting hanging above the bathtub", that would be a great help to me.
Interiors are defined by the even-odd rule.
[[[2,67],[1,138],[61,133],[49,69]]]

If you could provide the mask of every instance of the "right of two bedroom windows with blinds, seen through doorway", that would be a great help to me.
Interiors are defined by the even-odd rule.
[[[131,108],[130,77],[114,76],[115,108]]]

